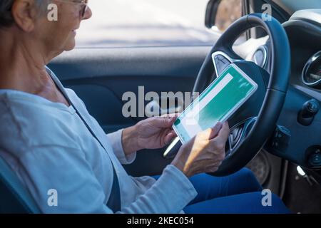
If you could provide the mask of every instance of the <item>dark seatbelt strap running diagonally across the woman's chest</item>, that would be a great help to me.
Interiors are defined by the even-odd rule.
[[[81,115],[81,113],[78,111],[78,109],[76,108],[75,105],[73,105],[73,103],[71,102],[71,100],[69,99],[68,95],[66,94],[66,91],[63,89],[63,86],[61,84],[61,82],[58,80],[58,78],[56,78],[56,76],[54,75],[54,73],[49,69],[49,75],[51,76],[51,78],[54,80],[54,82],[56,83],[56,86],[59,88],[59,90],[61,90],[61,93],[63,93],[63,95],[65,95],[65,98],[68,100],[68,102],[73,106],[73,108],[76,110],[77,115],[79,116],[79,118],[81,118],[81,120],[83,121],[83,124],[86,126],[86,128],[89,130],[89,132],[91,133],[91,135],[93,135],[93,138],[95,138],[99,144],[101,145],[101,147],[103,147],[103,149],[106,151],[107,155],[108,152],[106,150],[106,148],[103,146],[103,143],[98,139],[98,137],[96,136],[96,134],[93,132],[93,130],[91,129],[91,127],[88,125],[88,123],[86,122],[86,120],[83,118],[83,116]],[[109,155],[108,155],[109,156]],[[118,182],[118,177],[117,177],[117,173],[115,170],[115,167],[113,165],[113,161],[111,160],[111,165],[113,167],[113,185],[111,187],[111,195],[109,196],[108,202],[107,202],[107,207],[109,207],[110,209],[113,210],[113,212],[118,212],[121,210],[121,190],[119,187],[119,182]]]

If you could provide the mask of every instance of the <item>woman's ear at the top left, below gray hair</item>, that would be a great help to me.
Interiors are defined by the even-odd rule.
[[[37,15],[39,15],[34,0],[14,1],[11,14],[16,26],[23,31],[30,32],[34,30]]]

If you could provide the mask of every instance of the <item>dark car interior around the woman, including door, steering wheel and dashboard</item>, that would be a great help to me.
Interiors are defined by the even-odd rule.
[[[208,2],[208,29],[215,26],[223,1]],[[272,19],[263,18],[264,4],[272,6]],[[138,96],[138,87],[144,86],[145,93],[159,95],[202,92],[230,63],[260,89],[230,118],[227,156],[211,175],[246,166],[291,212],[321,213],[320,0],[242,0],[242,17],[212,46],[76,48],[55,58],[49,68],[83,100],[103,130],[112,133],[146,118],[123,116],[127,91]],[[135,177],[161,175],[180,145],[174,140],[163,149],[143,150],[124,167]],[[39,212],[1,159],[0,192],[1,213]]]

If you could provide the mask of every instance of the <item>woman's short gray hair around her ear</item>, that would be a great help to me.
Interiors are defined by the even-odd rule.
[[[41,9],[39,13],[46,10],[50,0],[34,0],[36,6]],[[9,27],[14,24],[14,19],[11,14],[11,7],[14,4],[14,0],[0,0],[0,28]]]

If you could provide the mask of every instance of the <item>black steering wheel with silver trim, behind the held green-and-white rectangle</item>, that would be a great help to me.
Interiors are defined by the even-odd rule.
[[[232,48],[242,33],[256,26],[264,28],[270,37],[270,74],[245,61]],[[282,25],[274,18],[263,20],[262,14],[249,14],[235,21],[205,58],[193,91],[201,93],[218,76],[218,71],[231,63],[250,76],[258,84],[258,90],[228,120],[232,127],[226,157],[218,171],[210,173],[215,176],[230,175],[245,167],[275,130],[290,78],[290,45]]]

